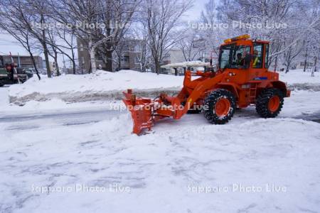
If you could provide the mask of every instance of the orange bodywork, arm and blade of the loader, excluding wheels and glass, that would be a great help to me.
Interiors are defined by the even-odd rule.
[[[263,48],[262,67],[260,68],[254,68],[253,61],[250,60],[249,67],[242,69],[218,66],[216,72],[197,71],[192,73],[186,71],[183,88],[176,97],[160,94],[154,101],[136,98],[132,94],[132,90],[128,89],[128,92],[124,92],[125,99],[123,101],[132,113],[133,133],[139,134],[142,129],[151,129],[154,121],[165,117],[180,119],[191,107],[201,105],[208,93],[215,89],[228,89],[233,92],[239,108],[255,104],[256,97],[262,89],[268,87],[276,87],[283,92],[284,97],[289,97],[290,91],[284,82],[279,81],[279,74],[267,69],[265,55],[269,42],[247,38],[229,40],[220,46],[220,51],[227,45],[245,46],[250,48],[250,55],[253,55],[255,44],[259,44]],[[196,79],[192,80],[192,76],[196,76]]]

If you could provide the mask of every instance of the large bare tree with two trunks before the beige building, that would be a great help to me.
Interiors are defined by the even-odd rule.
[[[100,45],[107,47],[107,70],[112,71],[112,52],[127,31],[138,4],[139,0],[51,0],[53,18],[72,26],[75,35],[86,41],[93,72]]]

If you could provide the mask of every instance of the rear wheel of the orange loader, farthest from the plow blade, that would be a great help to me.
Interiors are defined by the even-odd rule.
[[[283,93],[276,88],[267,88],[257,97],[255,109],[262,118],[274,118],[282,109]]]

